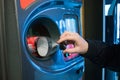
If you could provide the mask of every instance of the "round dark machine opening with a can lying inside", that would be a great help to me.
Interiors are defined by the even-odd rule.
[[[47,17],[32,20],[26,30],[26,45],[36,59],[48,59],[58,50],[56,41],[60,36],[54,21]]]

